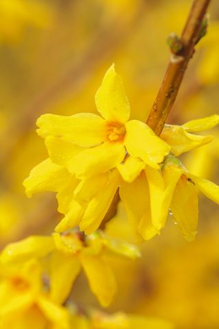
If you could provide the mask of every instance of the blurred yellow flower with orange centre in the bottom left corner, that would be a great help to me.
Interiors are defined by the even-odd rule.
[[[69,329],[68,311],[45,291],[36,261],[18,267],[1,265],[0,328]]]

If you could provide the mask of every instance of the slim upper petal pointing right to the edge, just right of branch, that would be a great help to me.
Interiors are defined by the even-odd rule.
[[[219,115],[213,114],[210,117],[188,121],[184,123],[182,127],[187,132],[201,132],[203,130],[208,130],[215,127],[216,125],[218,125],[218,123],[219,123]]]

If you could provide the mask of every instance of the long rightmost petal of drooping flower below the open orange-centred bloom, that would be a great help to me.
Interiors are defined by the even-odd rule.
[[[107,184],[105,184],[103,189],[89,202],[88,208],[79,225],[81,231],[84,231],[86,234],[91,234],[94,230],[99,228],[107,210],[110,208],[119,182],[120,175],[117,170],[114,170],[110,173]]]

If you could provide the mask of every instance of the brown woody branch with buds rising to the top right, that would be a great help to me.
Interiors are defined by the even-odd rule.
[[[159,89],[157,98],[146,123],[158,136],[162,133],[164,124],[177,97],[179,87],[185,74],[188,62],[194,53],[194,46],[198,42],[203,28],[203,19],[211,0],[194,0],[190,14],[181,34],[181,49],[172,53],[170,62]]]

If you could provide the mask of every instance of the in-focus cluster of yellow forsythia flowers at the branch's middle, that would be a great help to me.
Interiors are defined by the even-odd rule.
[[[158,137],[146,123],[129,120],[129,101],[114,65],[105,73],[95,100],[101,116],[44,114],[38,119],[38,134],[45,139],[49,158],[25,180],[27,196],[56,192],[64,218],[55,231],[79,226],[91,234],[119,191],[137,241],[159,234],[169,209],[183,236],[194,239],[196,190],[219,203],[219,187],[188,173],[175,156],[210,143],[212,136],[194,133],[217,125],[219,116],[166,125]]]

